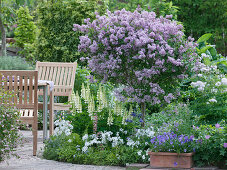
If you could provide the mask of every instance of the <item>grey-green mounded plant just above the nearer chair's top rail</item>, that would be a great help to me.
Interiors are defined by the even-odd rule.
[[[0,56],[0,70],[32,70],[26,61],[21,57],[16,56]]]

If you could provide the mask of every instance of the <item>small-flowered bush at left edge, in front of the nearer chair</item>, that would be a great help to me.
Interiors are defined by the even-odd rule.
[[[3,81],[0,80],[2,84]],[[14,94],[0,89],[0,162],[14,150],[19,143],[19,113],[12,106],[6,106]]]

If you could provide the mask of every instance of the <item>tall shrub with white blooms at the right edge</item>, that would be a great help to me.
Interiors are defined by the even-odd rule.
[[[227,78],[215,62],[206,61],[193,68],[195,74],[190,78],[192,90],[188,97],[192,110],[202,121],[215,123],[227,118]]]

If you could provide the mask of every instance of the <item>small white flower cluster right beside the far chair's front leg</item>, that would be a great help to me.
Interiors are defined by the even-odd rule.
[[[54,129],[54,136],[71,135],[73,126],[68,120],[56,120],[54,124],[56,126]]]

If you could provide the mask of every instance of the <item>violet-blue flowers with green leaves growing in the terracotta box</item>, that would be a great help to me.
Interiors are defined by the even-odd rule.
[[[201,142],[201,140],[196,140],[194,136],[164,132],[151,139],[151,150],[152,152],[189,153],[195,152]]]

